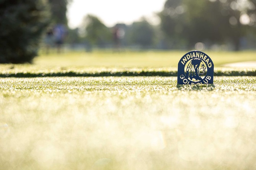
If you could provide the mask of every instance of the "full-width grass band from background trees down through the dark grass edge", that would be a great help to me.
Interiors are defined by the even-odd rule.
[[[37,57],[34,64],[0,65],[0,77],[44,76],[177,76],[184,51],[52,53]],[[227,63],[256,61],[256,53],[206,52],[215,64],[215,76],[256,76],[256,68],[225,68]]]

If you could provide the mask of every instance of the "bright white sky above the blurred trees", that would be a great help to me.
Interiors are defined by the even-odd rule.
[[[159,22],[154,13],[162,11],[166,0],[73,0],[68,7],[68,25],[78,27],[84,16],[93,14],[107,26],[131,24],[145,16],[152,24]]]

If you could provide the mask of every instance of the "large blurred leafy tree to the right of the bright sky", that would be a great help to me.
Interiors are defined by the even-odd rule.
[[[167,0],[160,26],[172,44],[228,40],[239,50],[241,37],[255,29],[255,6],[255,0]]]

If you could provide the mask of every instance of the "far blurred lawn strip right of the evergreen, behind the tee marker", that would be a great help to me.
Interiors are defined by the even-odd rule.
[[[112,51],[94,51],[88,52],[64,52],[63,54],[45,55],[41,53],[34,60],[36,65],[44,67],[115,67],[115,68],[159,68],[159,67],[177,67],[181,57],[188,51],[141,51],[141,52],[112,52]],[[205,52],[211,57],[215,67],[221,67],[223,64],[241,61],[256,61],[255,51],[242,52]]]

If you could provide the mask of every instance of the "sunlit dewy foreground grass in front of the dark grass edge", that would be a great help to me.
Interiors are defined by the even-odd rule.
[[[256,78],[0,78],[0,169],[256,168]]]

